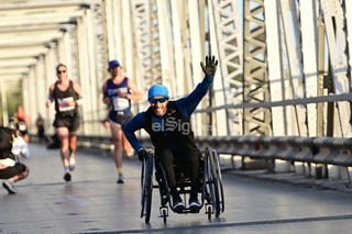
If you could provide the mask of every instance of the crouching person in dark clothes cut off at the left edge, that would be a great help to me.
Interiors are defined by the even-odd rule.
[[[12,153],[14,138],[15,131],[0,126],[0,179],[9,194],[16,193],[14,182],[25,179],[30,174],[29,168]]]

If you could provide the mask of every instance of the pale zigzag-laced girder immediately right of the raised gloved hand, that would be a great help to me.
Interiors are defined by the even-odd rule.
[[[212,53],[219,54],[219,76],[215,80],[215,105],[241,102],[243,46],[237,4],[232,0],[212,0],[213,25],[210,27]],[[213,38],[215,37],[215,38]],[[242,134],[241,110],[216,112],[217,135]]]

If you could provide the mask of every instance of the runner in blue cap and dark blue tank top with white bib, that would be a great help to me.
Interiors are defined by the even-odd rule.
[[[113,157],[118,170],[118,183],[123,183],[122,152],[124,135],[122,125],[132,118],[131,101],[142,100],[142,93],[134,81],[122,74],[122,67],[118,60],[110,60],[108,71],[111,77],[102,85],[102,101],[109,107],[110,132],[114,145]],[[132,148],[131,148],[132,149]],[[127,155],[133,155],[128,149]]]

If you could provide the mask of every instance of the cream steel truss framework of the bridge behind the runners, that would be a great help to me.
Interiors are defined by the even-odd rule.
[[[42,113],[52,130],[44,103],[64,63],[84,90],[80,135],[106,136],[108,60],[119,59],[144,93],[164,83],[177,98],[202,79],[199,62],[211,53],[220,64],[194,116],[196,135],[345,140],[351,19],[350,0],[2,0],[2,122],[8,93],[20,87],[31,119]]]

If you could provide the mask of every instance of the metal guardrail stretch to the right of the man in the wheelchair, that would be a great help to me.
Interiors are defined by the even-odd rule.
[[[246,135],[197,140],[200,147],[210,145],[219,154],[352,166],[351,138]]]

